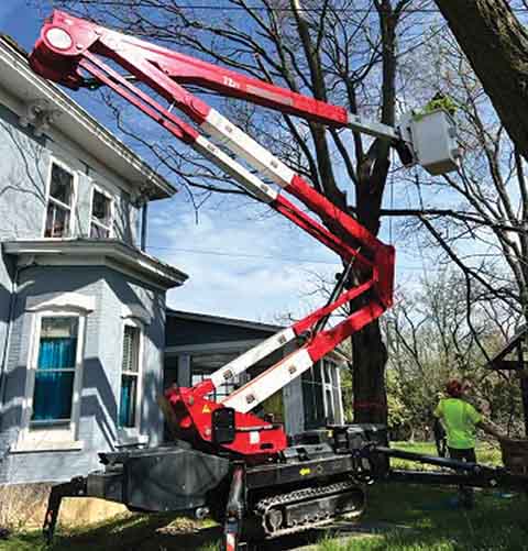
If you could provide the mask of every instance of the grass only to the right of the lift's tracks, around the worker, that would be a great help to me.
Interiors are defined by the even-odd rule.
[[[394,442],[393,448],[436,455],[433,443]],[[501,465],[501,451],[490,444],[476,450],[480,463]],[[435,469],[393,459],[395,469]],[[378,536],[339,541],[331,535],[318,551],[458,551],[528,550],[528,500],[525,495],[476,491],[474,510],[451,508],[455,488],[377,484],[369,493],[364,524],[387,522],[405,528]]]

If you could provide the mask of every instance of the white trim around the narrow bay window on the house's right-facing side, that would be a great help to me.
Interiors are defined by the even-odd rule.
[[[123,377],[122,360],[123,360],[123,341],[124,341],[124,328],[134,327],[140,330],[139,334],[139,351],[138,351],[138,387],[135,393],[135,411],[134,411],[134,426],[133,427],[119,427],[119,410],[121,407],[121,384]],[[119,392],[118,392],[118,418],[116,419],[116,426],[118,429],[118,443],[116,445],[131,445],[139,443],[146,443],[147,437],[141,434],[141,411],[143,405],[143,364],[144,364],[144,350],[145,350],[145,324],[135,317],[128,317],[123,320],[123,330],[121,331],[121,354],[120,359],[120,370],[119,370]]]

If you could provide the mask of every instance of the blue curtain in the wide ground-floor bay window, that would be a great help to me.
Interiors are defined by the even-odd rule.
[[[69,419],[77,339],[41,339],[33,394],[33,421]],[[72,368],[73,371],[55,371]]]

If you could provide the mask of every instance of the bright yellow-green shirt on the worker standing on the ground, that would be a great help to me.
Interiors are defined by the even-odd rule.
[[[475,447],[475,426],[482,421],[482,416],[471,404],[460,398],[446,398],[440,400],[433,415],[442,419],[450,448],[468,450]]]

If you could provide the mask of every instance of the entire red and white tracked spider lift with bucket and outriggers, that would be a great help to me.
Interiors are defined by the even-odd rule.
[[[66,495],[102,497],[132,510],[174,510],[199,518],[212,515],[224,524],[224,547],[229,551],[241,549],[250,537],[278,537],[324,525],[344,513],[360,514],[364,483],[395,476],[388,456],[405,454],[388,448],[384,427],[334,426],[288,439],[280,425],[265,421],[252,410],[391,307],[394,249],[185,87],[193,85],[334,129],[386,140],[404,165],[420,164],[430,174],[457,168],[459,150],[450,115],[442,110],[420,118],[409,114],[396,128],[371,123],[342,107],[61,11],[55,11],[42,29],[30,63],[40,75],[74,90],[111,88],[230,175],[250,195],[336,252],[346,266],[327,305],[228,363],[209,379],[191,388],[166,392],[163,408],[176,430],[174,444],[101,453],[102,471],[56,486],[46,515],[47,535],[53,533],[61,499]],[[140,82],[154,95],[140,88]],[[345,279],[352,264],[359,284],[349,288]],[[326,329],[328,317],[351,301],[358,308]],[[208,397],[286,345],[295,350],[223,400],[217,403]],[[407,455],[440,461],[454,469],[459,474],[450,475],[450,482],[462,477],[477,485],[493,485],[498,480],[513,484],[513,475],[503,471]]]

